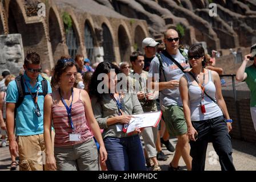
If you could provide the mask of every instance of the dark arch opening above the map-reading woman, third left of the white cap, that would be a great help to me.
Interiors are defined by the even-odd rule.
[[[115,55],[114,55],[114,42],[113,42],[113,36],[111,35],[111,32],[109,30],[109,27],[106,23],[102,23],[102,47],[104,50],[104,61],[114,61]]]

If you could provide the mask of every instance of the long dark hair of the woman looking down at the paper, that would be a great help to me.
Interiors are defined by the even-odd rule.
[[[97,88],[98,88],[98,84],[100,82],[102,82],[102,80],[98,80],[98,75],[101,73],[108,74],[108,73],[110,73],[111,69],[115,69],[115,74],[121,73],[121,71],[117,67],[117,65],[114,65],[114,64],[106,62],[106,61],[99,63],[99,65],[97,66],[97,68],[95,69],[95,71],[93,73],[93,76],[91,76],[91,82],[89,85],[90,97],[93,97],[93,96],[95,96],[97,98],[101,97],[101,94],[98,93]]]

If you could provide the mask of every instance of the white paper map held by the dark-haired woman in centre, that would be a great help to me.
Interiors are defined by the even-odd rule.
[[[136,128],[141,129],[143,127],[157,127],[162,116],[162,111],[135,114],[133,116],[134,118],[131,118],[126,133],[131,133]]]

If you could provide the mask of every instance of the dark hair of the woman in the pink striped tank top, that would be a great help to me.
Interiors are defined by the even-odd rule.
[[[59,77],[61,77],[62,73],[65,73],[67,68],[70,68],[73,66],[75,66],[75,68],[78,68],[77,64],[73,59],[59,59],[53,69],[54,74],[53,74],[53,77],[51,78],[51,86],[56,88],[59,82]]]

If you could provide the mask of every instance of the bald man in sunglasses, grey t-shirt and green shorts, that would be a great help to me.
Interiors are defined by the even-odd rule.
[[[159,88],[160,105],[163,111],[163,117],[170,135],[178,138],[174,158],[169,165],[170,170],[178,170],[179,159],[183,158],[187,169],[191,170],[191,156],[189,155],[189,137],[187,136],[186,120],[183,114],[182,100],[179,96],[179,78],[183,72],[167,56],[173,57],[182,65],[184,69],[189,68],[189,63],[183,56],[184,53],[179,50],[178,32],[169,29],[165,32],[163,42],[166,50],[160,53],[163,71],[161,71],[160,80],[154,80],[154,74],[159,74],[159,59],[157,56],[151,61],[149,68],[149,77],[153,80],[153,87]],[[187,53],[187,50],[185,50]]]

